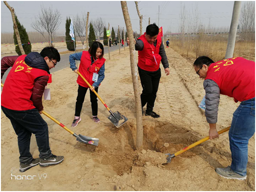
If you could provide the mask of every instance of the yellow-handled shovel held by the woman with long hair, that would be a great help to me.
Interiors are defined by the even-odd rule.
[[[83,75],[78,71],[78,75],[83,79],[84,82],[86,82],[86,84],[89,86],[89,88],[91,88],[92,86],[89,84],[88,81],[86,81],[86,79],[83,77]],[[116,112],[112,112],[109,107],[106,105],[106,103],[100,98],[100,95],[98,95],[98,93],[93,90],[93,92],[95,93],[95,95],[100,99],[101,103],[104,104],[104,106],[106,107],[106,109],[110,112],[111,115],[109,115],[107,118],[118,128],[120,126],[122,126],[126,121],[128,121],[127,117],[125,117],[124,115],[122,115],[121,113],[119,113],[118,111]]]

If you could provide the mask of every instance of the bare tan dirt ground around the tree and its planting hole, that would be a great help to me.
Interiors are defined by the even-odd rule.
[[[65,157],[61,165],[36,166],[15,176],[36,176],[32,181],[15,180],[11,168],[19,167],[17,136],[10,121],[1,112],[1,190],[4,191],[255,191],[255,135],[249,141],[249,162],[245,181],[218,176],[217,167],[231,164],[228,132],[217,140],[190,149],[165,163],[165,153],[175,153],[185,146],[208,136],[204,112],[198,108],[204,96],[203,81],[192,63],[166,49],[171,74],[162,77],[155,111],[161,118],[143,116],[144,150],[136,151],[136,114],[130,70],[129,50],[111,52],[106,60],[106,77],[99,94],[112,111],[118,110],[128,122],[116,128],[106,118],[109,113],[99,101],[100,124],[92,121],[87,93],[81,114],[82,121],[72,130],[100,139],[99,147],[78,143],[70,133],[45,115],[49,126],[50,148],[53,154]],[[137,57],[138,59],[138,57]],[[51,100],[44,101],[44,110],[71,128],[78,84],[71,69],[52,74]],[[140,86],[140,91],[142,90]],[[230,126],[232,114],[239,104],[221,96],[218,130]],[[31,153],[39,155],[35,137]],[[47,174],[47,177],[41,177]],[[46,176],[46,175],[44,175]],[[13,178],[13,179],[11,179]]]

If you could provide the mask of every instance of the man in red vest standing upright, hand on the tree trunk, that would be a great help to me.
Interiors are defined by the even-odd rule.
[[[135,50],[139,51],[138,71],[143,88],[140,95],[142,114],[144,113],[143,107],[147,104],[145,115],[150,115],[154,118],[160,117],[160,115],[153,111],[161,78],[160,62],[162,62],[165,73],[167,75],[170,74],[164,44],[158,33],[159,28],[154,23],[146,28],[146,33],[141,35],[138,40],[135,40]],[[127,42],[129,44],[128,38]]]

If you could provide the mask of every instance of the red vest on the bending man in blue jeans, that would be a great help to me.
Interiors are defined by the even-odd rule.
[[[206,79],[217,83],[220,93],[242,102],[255,97],[255,62],[234,57],[212,63]]]

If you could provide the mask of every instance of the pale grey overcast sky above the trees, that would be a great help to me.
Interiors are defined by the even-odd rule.
[[[90,12],[89,20],[102,17],[109,22],[112,27],[125,27],[122,15],[120,1],[7,1],[14,7],[19,21],[28,32],[34,31],[30,26],[40,12],[40,6],[57,8],[61,11],[61,25],[58,32],[65,33],[66,17],[73,18],[77,13]],[[208,26],[211,17],[211,25],[215,27],[229,27],[234,1],[182,1],[189,13],[192,13],[192,7],[198,3],[200,19],[202,23]],[[243,5],[244,2],[242,2]],[[128,11],[132,21],[134,31],[139,33],[139,16],[134,1],[128,1]],[[181,10],[181,1],[140,1],[139,10],[143,15],[143,33],[150,22],[156,22],[158,25],[158,6],[160,6],[160,27],[163,26],[164,32],[167,30],[172,33],[178,33],[179,14]],[[1,1],[1,32],[13,32],[11,12]]]

